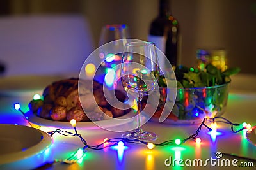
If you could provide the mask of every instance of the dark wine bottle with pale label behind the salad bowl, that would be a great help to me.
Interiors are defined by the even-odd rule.
[[[179,24],[169,10],[168,0],[159,0],[159,15],[150,24],[148,41],[156,44],[172,64],[178,66],[178,34]],[[159,66],[163,68],[164,59],[159,57]]]

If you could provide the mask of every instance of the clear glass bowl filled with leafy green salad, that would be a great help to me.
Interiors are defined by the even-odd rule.
[[[172,124],[195,124],[205,117],[225,113],[228,100],[230,76],[239,73],[239,67],[221,72],[212,64],[204,70],[179,66],[175,68],[177,96],[172,112],[166,119]],[[159,118],[166,103],[166,80],[159,78],[159,108],[153,117]]]

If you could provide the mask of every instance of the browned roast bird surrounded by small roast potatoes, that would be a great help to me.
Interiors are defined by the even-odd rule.
[[[79,82],[78,78],[55,81],[45,87],[43,100],[33,100],[29,103],[29,110],[41,118],[56,121],[70,121],[74,118],[77,122],[88,122],[91,121],[90,118],[105,120],[109,117],[120,117],[131,111],[131,109],[115,109],[106,100],[102,84],[93,81],[93,90],[91,90],[91,82],[89,80]],[[79,90],[78,83],[81,83]],[[79,93],[83,104],[79,99]],[[115,94],[119,101],[125,101],[124,92],[115,90]],[[82,105],[86,108],[86,113]],[[125,108],[124,106],[123,104],[120,108]],[[90,118],[87,115],[90,115]]]

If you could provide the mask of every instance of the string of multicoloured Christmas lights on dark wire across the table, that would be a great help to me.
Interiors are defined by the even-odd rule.
[[[15,104],[15,109],[20,111],[22,113],[22,115],[24,115],[24,117],[26,118],[25,113],[20,109],[20,105]],[[26,118],[26,120],[28,120],[28,118]],[[28,120],[29,122],[29,120]],[[212,127],[209,127],[208,125],[206,125],[206,122],[211,122]],[[54,134],[61,134],[63,136],[78,136],[81,139],[81,142],[83,143],[83,148],[79,148],[76,153],[72,154],[71,157],[69,157],[68,159],[65,160],[65,162],[70,163],[70,161],[73,161],[74,158],[76,158],[77,160],[79,160],[81,157],[83,157],[83,154],[86,150],[86,148],[92,149],[92,150],[102,150],[104,148],[108,148],[111,146],[124,146],[124,143],[134,143],[134,144],[143,144],[143,145],[147,145],[147,148],[152,150],[154,147],[156,146],[165,146],[165,145],[180,145],[182,143],[186,143],[186,141],[188,141],[189,139],[193,139],[196,143],[201,143],[201,139],[198,138],[198,134],[200,133],[200,131],[202,130],[202,127],[206,127],[209,131],[213,131],[215,129],[216,131],[216,126],[217,123],[223,123],[223,124],[229,124],[230,125],[230,129],[232,132],[234,133],[238,133],[240,131],[243,131],[244,129],[248,129],[248,132],[252,131],[252,126],[250,124],[246,124],[243,123],[242,124],[242,128],[237,129],[236,131],[234,130],[234,127],[239,127],[241,126],[241,124],[237,124],[237,123],[233,123],[230,120],[228,120],[227,118],[224,117],[214,117],[214,118],[204,118],[204,120],[202,120],[202,123],[198,126],[198,129],[196,129],[195,134],[192,134],[191,136],[188,136],[188,138],[185,138],[183,140],[180,139],[171,139],[168,141],[164,141],[162,143],[152,143],[152,142],[145,142],[143,140],[140,139],[129,139],[129,138],[105,138],[104,141],[102,143],[100,143],[99,145],[88,145],[88,143],[86,142],[86,140],[83,138],[83,136],[81,136],[81,134],[77,133],[77,129],[76,129],[76,120],[72,119],[70,120],[70,124],[72,125],[72,127],[74,127],[74,131],[73,132],[68,132],[65,130],[61,130],[61,129],[56,129],[55,131],[50,131],[48,132],[48,134],[52,137]],[[30,122],[29,122],[29,125]],[[32,127],[32,125],[31,125]]]

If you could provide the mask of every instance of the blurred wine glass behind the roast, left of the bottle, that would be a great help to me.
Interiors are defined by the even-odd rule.
[[[124,45],[129,38],[129,27],[125,24],[107,24],[100,32],[99,39],[99,74],[106,73],[104,82],[99,78],[100,83],[105,83],[108,88],[122,87],[120,81],[120,64]],[[119,74],[118,74],[119,73]],[[116,80],[117,79],[117,80]]]

